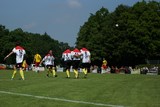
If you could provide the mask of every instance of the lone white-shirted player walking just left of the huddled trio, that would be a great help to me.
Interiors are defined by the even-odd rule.
[[[54,56],[52,54],[52,50],[49,51],[49,53],[42,59],[40,64],[44,62],[45,66],[47,67],[47,77],[49,77],[49,73],[52,73],[53,77],[57,77],[55,67],[54,67]]]

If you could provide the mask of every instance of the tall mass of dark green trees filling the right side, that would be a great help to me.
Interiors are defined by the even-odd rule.
[[[102,7],[81,26],[76,45],[91,50],[92,60],[106,58],[110,65],[160,59],[159,10],[156,1],[119,5],[111,13]]]

